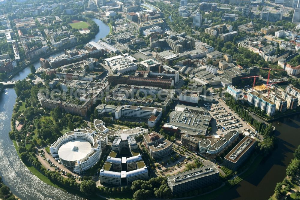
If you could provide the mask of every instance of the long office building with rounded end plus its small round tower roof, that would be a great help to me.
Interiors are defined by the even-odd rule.
[[[226,149],[228,149],[233,143],[235,143],[235,141],[238,140],[238,137],[239,137],[239,132],[237,130],[229,131],[224,135],[223,138],[220,138],[219,141],[217,141],[207,149],[206,158],[214,160],[217,156],[219,156]],[[201,141],[199,145],[205,146],[203,144],[204,141],[203,142]]]

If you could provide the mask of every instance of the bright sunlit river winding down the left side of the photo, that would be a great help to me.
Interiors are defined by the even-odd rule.
[[[91,41],[97,42],[104,38],[110,28],[101,20],[93,19],[99,26],[99,33]],[[51,56],[58,56],[64,51],[57,52]],[[34,63],[35,68],[40,67],[40,62]],[[30,68],[25,68],[13,77],[13,80],[24,79],[30,73]],[[13,142],[8,137],[10,131],[10,119],[13,112],[13,106],[16,100],[14,89],[8,88],[1,93],[0,98],[0,176],[3,182],[10,187],[10,190],[21,199],[83,199],[73,194],[64,192],[60,189],[49,186],[35,175],[33,175],[21,162]]]

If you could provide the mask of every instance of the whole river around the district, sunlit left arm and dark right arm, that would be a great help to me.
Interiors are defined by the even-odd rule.
[[[91,41],[104,38],[110,31],[101,20],[94,19],[99,25],[100,32]],[[52,54],[58,56],[63,51]],[[40,67],[39,62],[34,63]],[[24,79],[30,73],[26,68],[14,77],[14,80]],[[16,94],[14,89],[6,89],[0,98],[0,175],[11,191],[21,199],[82,199],[73,194],[61,191],[47,185],[35,177],[19,159],[12,141],[8,137],[10,119]],[[292,153],[300,144],[300,117],[294,116],[278,120],[275,135],[278,138],[278,147],[267,159],[263,160],[256,171],[241,181],[237,186],[221,194],[217,199],[268,199],[274,192],[277,182],[285,177],[286,166],[292,159]]]

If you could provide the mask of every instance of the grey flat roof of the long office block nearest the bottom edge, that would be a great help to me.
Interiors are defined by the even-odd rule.
[[[218,174],[218,173],[219,171],[217,170],[217,168],[214,167],[214,165],[206,165],[203,167],[192,169],[190,171],[185,171],[173,176],[169,176],[167,177],[167,179],[172,186],[176,186],[191,180],[199,179],[205,176]]]

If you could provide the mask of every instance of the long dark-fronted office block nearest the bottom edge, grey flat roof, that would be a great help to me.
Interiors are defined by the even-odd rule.
[[[216,183],[218,180],[219,171],[214,165],[206,165],[167,177],[168,186],[172,194],[180,194],[193,189],[199,189]]]

